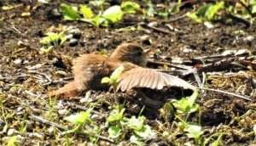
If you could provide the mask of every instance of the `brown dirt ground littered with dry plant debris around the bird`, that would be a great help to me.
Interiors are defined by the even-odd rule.
[[[69,113],[76,113],[83,110],[80,109],[81,107],[89,108],[88,104],[80,103],[79,98],[56,99],[55,102],[58,103],[58,106],[50,108],[51,101],[40,96],[73,80],[72,60],[79,54],[93,53],[104,48],[108,50],[108,53],[112,53],[119,44],[137,42],[143,48],[160,49],[159,55],[167,57],[193,59],[219,55],[225,50],[241,49],[251,51],[251,56],[255,57],[255,24],[247,27],[243,23],[228,21],[224,18],[214,22],[213,28],[207,28],[206,25],[195,23],[187,17],[172,20],[183,14],[183,11],[186,11],[184,9],[179,14],[172,16],[170,18],[172,21],[169,22],[156,17],[143,18],[139,14],[125,14],[119,25],[113,25],[110,28],[95,28],[84,22],[63,20],[61,14],[55,14],[55,8],[58,8],[60,3],[37,5],[36,2],[19,0],[0,2],[0,7],[8,4],[17,6],[10,10],[0,9],[0,98],[3,103],[2,107],[4,107],[4,112],[3,109],[0,112],[1,145],[5,145],[8,142],[7,139],[15,134],[19,134],[21,137],[20,145],[62,145],[65,143],[65,136],[55,139],[54,135],[58,134],[59,130],[50,131],[49,125],[33,120],[31,115],[46,118],[49,110],[53,110],[54,114],[50,115],[52,118],[49,119],[59,124],[67,124],[63,121],[64,115],[58,111],[67,110]],[[28,6],[31,7],[31,15],[21,17],[20,14]],[[164,31],[143,27],[143,24],[147,25],[151,22],[156,22],[155,27]],[[40,53],[39,49],[42,45],[39,42],[44,36],[44,31],[53,26],[58,27],[58,25],[72,27],[73,30],[79,31],[81,36],[77,39],[78,44],[73,45],[70,39],[64,43],[62,48],[54,52]],[[139,25],[142,25],[144,31],[120,31],[121,28],[138,27]],[[167,25],[172,25],[177,31],[169,29]],[[237,33],[238,31],[241,33]],[[156,60],[156,58],[151,59],[153,62]],[[155,66],[153,65],[153,67]],[[241,72],[238,73],[239,70]],[[256,80],[256,73],[253,69],[239,68],[239,70],[230,68],[222,70],[222,74],[210,76],[207,87],[245,95],[252,101],[224,93],[200,91],[200,95],[196,99],[196,103],[200,105],[200,112],[190,116],[190,121],[201,123],[204,138],[208,138],[212,133],[225,132],[226,135],[222,137],[221,145],[253,145],[256,143],[253,134],[253,125],[256,124],[256,104],[254,102],[256,93],[251,82]],[[234,73],[231,76],[224,74],[231,72]],[[186,76],[184,80],[197,86],[193,75]],[[163,104],[172,98],[182,98],[183,94],[191,94],[191,92],[182,92],[179,88],[165,88],[163,91],[147,90],[145,92],[152,97],[157,97]],[[86,92],[83,96],[85,94]],[[134,97],[133,93],[118,93],[118,96],[119,102],[122,102],[124,98],[129,98],[128,104],[125,105],[127,115],[138,115],[143,104],[136,96]],[[100,104],[96,106],[96,110],[102,113],[109,112],[108,104],[114,101],[113,93],[108,91],[90,91],[90,97],[96,104]],[[160,117],[160,108],[146,107],[143,111],[143,115],[148,119],[148,124],[154,130],[158,130],[157,121],[165,122]],[[9,113],[8,123],[4,123],[3,113]],[[241,117],[241,115],[243,116]],[[26,132],[21,133],[20,127],[24,119],[27,123]],[[98,123],[104,123],[104,121],[103,118],[98,117]],[[6,124],[9,127],[7,130],[3,130],[3,126]],[[14,131],[9,133],[9,129]],[[106,133],[102,133],[102,136],[108,137]],[[184,135],[177,135],[174,139],[180,143],[190,140]],[[87,140],[73,135],[70,137],[70,142],[71,145],[75,143],[83,145],[87,143]],[[173,142],[158,135],[146,143],[148,145],[154,143],[159,145],[177,144]],[[127,142],[123,144],[125,143]]]

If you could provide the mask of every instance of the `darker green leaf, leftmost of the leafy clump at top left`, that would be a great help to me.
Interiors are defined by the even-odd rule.
[[[79,15],[77,7],[71,7],[66,3],[61,3],[61,13],[64,15],[64,20],[79,20],[81,16]]]

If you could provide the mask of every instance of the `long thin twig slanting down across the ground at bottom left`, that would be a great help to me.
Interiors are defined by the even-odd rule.
[[[61,126],[61,125],[59,125],[59,124],[57,124],[57,123],[55,123],[55,122],[52,122],[52,121],[47,121],[47,120],[43,119],[43,118],[40,117],[40,116],[37,116],[37,115],[30,115],[29,118],[32,119],[32,120],[35,120],[35,121],[38,121],[38,122],[47,124],[47,125],[49,125],[49,126],[55,126],[55,127],[59,128],[61,131],[67,131],[67,128],[65,128],[64,126]],[[77,131],[77,132],[75,132],[75,133],[79,134],[80,136],[86,137],[86,138],[88,137],[88,134],[86,134],[86,133],[84,133],[84,132],[79,132],[79,131]],[[94,135],[94,136],[96,136],[97,138],[100,138],[101,140],[106,141],[106,142],[108,142],[108,143],[114,143],[112,140],[110,140],[110,139],[108,139],[108,138],[105,138],[105,137],[102,137],[102,136],[100,136],[100,135],[97,135],[97,134],[96,134],[96,135]]]

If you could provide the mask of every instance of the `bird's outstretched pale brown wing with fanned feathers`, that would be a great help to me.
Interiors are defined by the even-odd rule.
[[[125,71],[119,76],[119,85],[117,89],[121,91],[131,90],[133,87],[148,87],[152,89],[162,89],[163,87],[183,87],[185,89],[195,90],[195,87],[189,82],[156,70],[137,67]]]

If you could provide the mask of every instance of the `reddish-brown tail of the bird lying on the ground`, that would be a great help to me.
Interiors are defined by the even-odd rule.
[[[60,98],[75,98],[79,95],[79,89],[74,81],[67,83],[64,87],[46,94],[48,97],[58,96]]]

